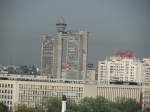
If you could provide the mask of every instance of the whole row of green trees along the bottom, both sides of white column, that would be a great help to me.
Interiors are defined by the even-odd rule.
[[[61,106],[61,98],[51,97],[45,98],[42,106],[35,108],[18,105],[15,107],[15,112],[61,112]],[[118,98],[117,102],[112,102],[100,96],[96,98],[85,97],[78,105],[73,100],[67,99],[66,108],[66,112],[137,112],[141,110],[141,106],[136,100]],[[0,110],[0,112],[3,111]],[[8,109],[4,112],[8,112]]]

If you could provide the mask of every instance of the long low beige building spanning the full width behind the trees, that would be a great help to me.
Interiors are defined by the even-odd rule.
[[[97,84],[83,80],[6,75],[0,74],[0,101],[8,105],[10,110],[14,109],[15,104],[40,106],[44,97],[62,95],[76,103],[84,97],[103,96],[111,101],[116,101],[119,97],[132,98],[141,103],[143,109],[150,107],[150,84]]]

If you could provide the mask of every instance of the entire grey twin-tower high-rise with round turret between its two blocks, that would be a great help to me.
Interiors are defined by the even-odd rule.
[[[42,36],[42,75],[62,78],[62,57],[66,57],[66,78],[86,79],[86,62],[88,51],[88,35],[86,31],[65,31],[67,24],[61,17],[56,23],[58,37],[49,38]],[[63,40],[66,39],[67,47],[64,48]],[[64,54],[66,49],[66,54]],[[57,75],[56,75],[57,74]]]

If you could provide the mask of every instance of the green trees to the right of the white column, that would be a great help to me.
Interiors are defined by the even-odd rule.
[[[119,98],[117,102],[112,102],[98,96],[85,97],[79,105],[67,106],[66,112],[137,112],[139,109],[140,104],[133,99]]]

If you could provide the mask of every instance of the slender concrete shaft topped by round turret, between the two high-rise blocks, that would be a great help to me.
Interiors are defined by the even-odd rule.
[[[56,23],[57,31],[58,31],[58,39],[57,39],[57,79],[61,78],[61,62],[62,62],[62,46],[63,46],[63,38],[66,37],[67,32],[65,32],[65,28],[67,24],[65,24],[64,19],[61,17]]]

